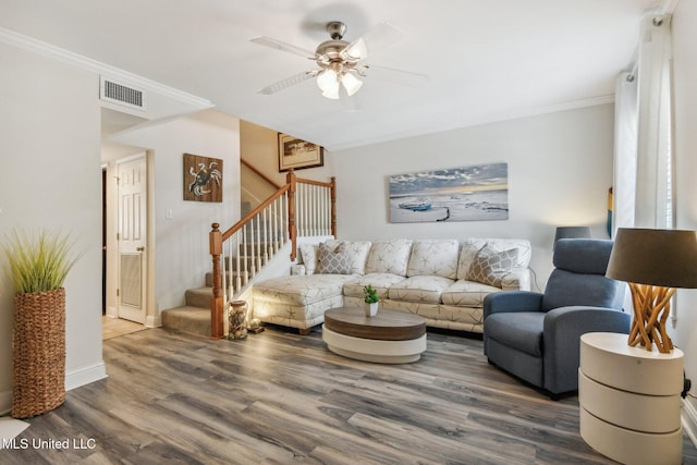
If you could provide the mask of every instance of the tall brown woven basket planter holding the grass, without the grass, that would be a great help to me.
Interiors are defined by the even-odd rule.
[[[30,418],[65,401],[65,289],[16,294],[12,416]]]

